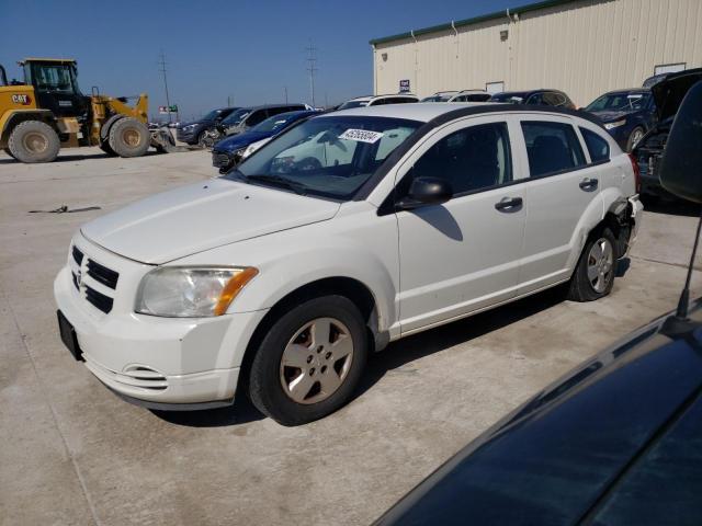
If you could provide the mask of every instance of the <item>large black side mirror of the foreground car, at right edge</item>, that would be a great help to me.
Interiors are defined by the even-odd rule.
[[[702,81],[678,108],[658,167],[660,184],[671,194],[702,203]]]

